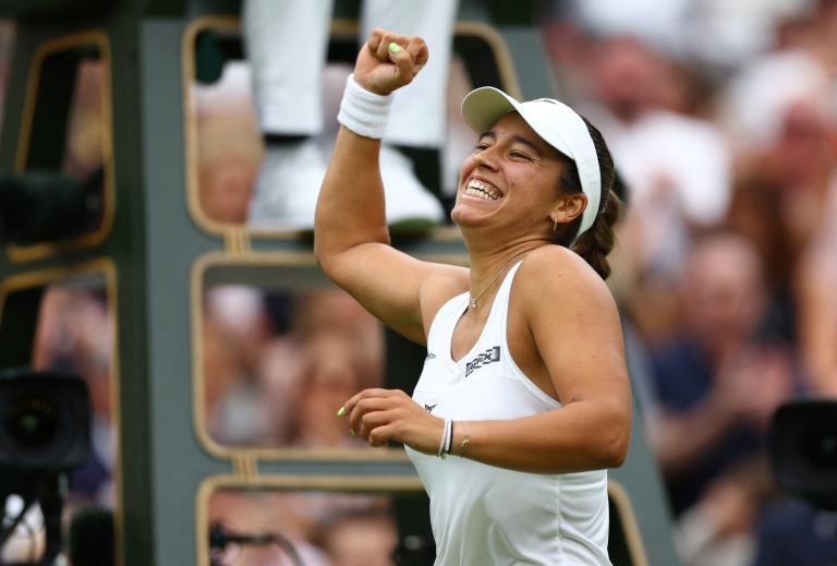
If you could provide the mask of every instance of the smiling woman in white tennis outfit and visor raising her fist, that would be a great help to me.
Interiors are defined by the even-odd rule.
[[[391,93],[427,61],[374,31],[343,94],[315,219],[325,273],[427,346],[413,397],[366,389],[351,432],[407,446],[430,497],[437,565],[610,564],[606,468],[630,437],[619,317],[604,284],[619,201],[602,135],[551,99],[495,88],[462,111],[478,143],[451,213],[470,269],[389,245],[378,170]]]

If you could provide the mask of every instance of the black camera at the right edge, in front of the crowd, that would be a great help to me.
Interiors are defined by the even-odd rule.
[[[773,417],[768,444],[780,487],[837,510],[837,399],[786,402]]]

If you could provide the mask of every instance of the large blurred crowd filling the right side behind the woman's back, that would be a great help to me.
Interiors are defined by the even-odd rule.
[[[628,186],[611,281],[688,565],[832,564],[787,498],[774,411],[837,396],[837,2],[561,1],[556,94]]]

